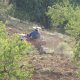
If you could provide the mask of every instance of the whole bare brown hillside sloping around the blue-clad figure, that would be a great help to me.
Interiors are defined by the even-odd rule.
[[[27,27],[22,28],[20,25],[21,23],[15,27],[8,25],[7,30],[10,34],[29,32]],[[46,41],[45,50],[48,52],[42,55],[39,53],[28,55],[29,63],[34,67],[33,76],[29,80],[79,80],[76,77],[78,69],[71,62],[72,51],[68,44],[71,42],[69,37],[46,30],[41,33]],[[24,63],[26,60],[25,57]]]

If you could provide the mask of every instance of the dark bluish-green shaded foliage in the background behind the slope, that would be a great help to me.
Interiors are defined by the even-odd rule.
[[[22,20],[39,22],[44,26],[49,26],[49,18],[46,16],[48,6],[55,0],[13,0],[15,8],[14,17]]]

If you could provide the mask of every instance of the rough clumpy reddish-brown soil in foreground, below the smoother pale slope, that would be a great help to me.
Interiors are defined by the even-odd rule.
[[[62,55],[31,55],[29,63],[34,67],[30,80],[79,80],[77,67],[70,59]]]

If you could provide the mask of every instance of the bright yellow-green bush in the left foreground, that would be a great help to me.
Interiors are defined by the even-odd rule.
[[[6,32],[5,25],[0,22],[0,79],[6,77],[9,80],[23,80],[26,77],[31,77],[31,66],[25,64],[22,66],[20,62],[23,58],[23,52],[27,53],[30,49],[30,44],[25,41],[20,41],[17,35],[11,37]]]

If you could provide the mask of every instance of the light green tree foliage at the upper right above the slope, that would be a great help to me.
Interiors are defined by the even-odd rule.
[[[69,0],[49,7],[47,15],[50,16],[53,26],[63,24],[67,20],[66,32],[74,37],[80,33],[80,8],[74,7]]]

